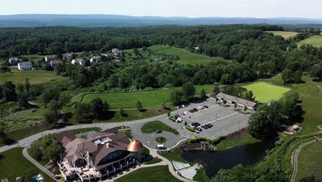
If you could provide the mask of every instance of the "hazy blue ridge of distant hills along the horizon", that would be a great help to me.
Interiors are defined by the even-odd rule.
[[[14,14],[0,15],[0,27],[78,26],[78,27],[125,27],[125,26],[197,26],[229,24],[299,25],[322,24],[322,19],[304,18],[225,18],[225,17],[131,17],[109,14]]]

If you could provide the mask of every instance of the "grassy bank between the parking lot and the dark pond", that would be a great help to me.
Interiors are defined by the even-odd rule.
[[[241,134],[240,136],[238,136],[235,139],[225,139],[223,141],[221,141],[218,145],[216,145],[216,148],[218,150],[224,150],[227,148],[233,148],[235,146],[238,145],[246,145],[246,144],[250,144],[250,143],[256,143],[259,140],[254,139],[253,136],[251,136],[248,132]]]

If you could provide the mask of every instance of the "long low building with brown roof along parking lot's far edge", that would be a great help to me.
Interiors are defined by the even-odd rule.
[[[228,103],[237,103],[237,105],[241,108],[244,108],[245,106],[247,107],[248,110],[256,110],[258,107],[259,103],[253,102],[253,101],[247,101],[245,99],[241,99],[238,97],[234,97],[228,94],[224,94],[220,92],[217,95],[212,95],[212,97],[217,97],[219,100],[224,101],[226,100]]]

